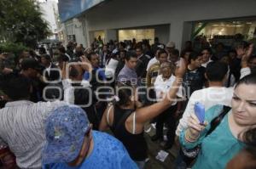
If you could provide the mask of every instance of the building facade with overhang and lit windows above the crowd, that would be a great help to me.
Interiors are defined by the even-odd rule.
[[[67,1],[71,0],[59,1],[61,16],[67,12],[63,2],[73,5]],[[77,1],[90,3],[90,0]],[[104,42],[133,37],[153,42],[154,37],[159,37],[160,42],[173,41],[177,48],[182,48],[185,41],[200,34],[208,39],[232,38],[237,33],[247,39],[255,38],[255,7],[255,0],[100,0],[78,14],[62,17],[61,21],[69,40],[85,47],[101,36]]]

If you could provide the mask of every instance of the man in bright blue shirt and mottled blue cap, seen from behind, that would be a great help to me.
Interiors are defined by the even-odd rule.
[[[125,147],[112,136],[91,130],[84,110],[62,106],[45,123],[44,169],[137,169]]]

